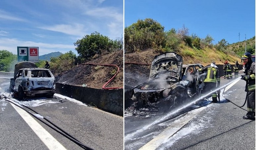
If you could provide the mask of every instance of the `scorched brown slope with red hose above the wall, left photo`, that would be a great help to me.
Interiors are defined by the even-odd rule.
[[[123,87],[123,50],[111,53],[104,52],[104,54],[98,55],[94,60],[86,63],[117,65],[120,71],[106,87]],[[116,72],[116,67],[78,65],[62,74],[58,82],[78,86],[86,84],[87,87],[101,89]]]

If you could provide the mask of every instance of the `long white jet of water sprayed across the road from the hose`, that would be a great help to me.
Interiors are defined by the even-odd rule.
[[[141,129],[139,129],[139,130],[137,130],[137,131],[135,131],[135,132],[133,132],[133,133],[131,133],[131,134],[126,135],[126,136],[125,136],[125,141],[127,141],[128,139],[130,140],[130,139],[131,139],[132,137],[134,137],[135,135],[137,135],[137,134],[139,134],[139,133],[141,133],[141,132],[143,132],[143,131],[149,129],[149,127],[151,127],[151,126],[153,126],[153,125],[155,125],[155,124],[157,124],[157,123],[159,123],[159,122],[165,120],[165,119],[168,118],[169,116],[171,116],[171,115],[173,115],[173,114],[179,112],[180,110],[182,110],[182,109],[184,109],[184,108],[186,108],[186,107],[188,107],[188,106],[190,106],[190,105],[193,105],[193,104],[196,103],[197,101],[200,101],[200,100],[202,100],[203,98],[205,98],[205,97],[207,97],[207,96],[209,96],[209,95],[211,95],[211,94],[213,94],[213,93],[216,93],[216,91],[221,90],[222,88],[225,88],[226,86],[228,86],[228,85],[230,85],[231,83],[236,82],[236,81],[238,81],[238,80],[240,80],[240,79],[241,79],[241,77],[238,77],[238,78],[236,78],[236,79],[234,79],[234,80],[228,82],[227,84],[223,85],[222,87],[219,87],[219,88],[217,88],[217,89],[215,89],[215,90],[209,92],[208,94],[204,94],[204,95],[200,96],[199,98],[193,100],[192,102],[190,102],[190,103],[188,103],[188,104],[186,104],[186,105],[184,105],[184,106],[178,107],[175,111],[172,111],[172,112],[168,113],[167,115],[163,116],[162,118],[155,120],[153,123],[151,123],[151,124],[149,124],[149,125],[147,125],[147,126],[144,126],[143,128],[141,128]]]

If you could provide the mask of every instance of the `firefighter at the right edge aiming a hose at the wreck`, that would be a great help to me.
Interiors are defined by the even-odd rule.
[[[241,75],[241,79],[246,81],[247,92],[247,114],[243,119],[255,120],[255,62],[252,62],[252,55],[248,52],[241,59],[245,68],[245,75]]]

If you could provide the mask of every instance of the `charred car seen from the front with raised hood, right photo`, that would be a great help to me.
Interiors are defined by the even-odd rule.
[[[128,109],[164,110],[199,96],[205,74],[200,75],[197,69],[203,66],[182,66],[182,62],[182,57],[175,52],[155,56],[149,79],[132,89],[134,103]]]

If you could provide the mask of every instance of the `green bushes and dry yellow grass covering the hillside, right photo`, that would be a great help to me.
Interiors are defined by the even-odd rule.
[[[212,43],[213,41],[214,39],[210,35],[205,38],[200,38],[196,34],[189,35],[188,28],[184,25],[178,30],[172,28],[169,31],[164,31],[164,27],[151,18],[139,19],[136,23],[125,28],[126,54],[157,49],[159,52],[180,54],[184,63],[209,64],[216,61],[216,63],[222,64],[225,60],[231,63],[240,61],[242,46],[234,49],[233,44],[230,45],[225,39],[216,45]],[[252,43],[250,43],[251,45],[248,44],[247,51],[250,50],[251,53],[255,53],[255,44]]]

